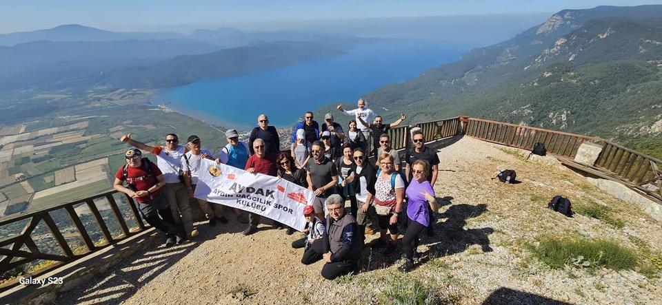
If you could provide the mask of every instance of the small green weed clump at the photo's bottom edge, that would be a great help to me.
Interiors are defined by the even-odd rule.
[[[429,286],[411,277],[394,277],[379,295],[380,304],[439,304],[441,299]]]

